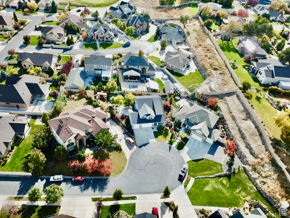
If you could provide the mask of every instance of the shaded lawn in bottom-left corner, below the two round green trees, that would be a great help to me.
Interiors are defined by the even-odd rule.
[[[30,205],[21,214],[13,216],[14,218],[43,218],[49,215],[56,214],[60,211],[60,206],[36,206]],[[8,211],[4,208],[0,211],[0,218],[10,217]],[[12,216],[11,216],[12,217]]]

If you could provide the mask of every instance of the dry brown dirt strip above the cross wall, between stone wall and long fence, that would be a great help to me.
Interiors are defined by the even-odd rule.
[[[168,21],[183,26],[179,21]],[[236,84],[230,76],[224,62],[215,50],[211,40],[201,29],[195,19],[185,27],[185,33],[193,50],[201,60],[209,77],[201,84],[200,90],[220,91],[236,88]]]

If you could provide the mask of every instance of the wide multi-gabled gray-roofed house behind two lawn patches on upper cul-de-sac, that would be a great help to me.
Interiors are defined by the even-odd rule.
[[[85,32],[91,36],[92,40],[105,42],[113,42],[119,35],[119,31],[108,24],[95,24],[92,28],[86,28]]]

